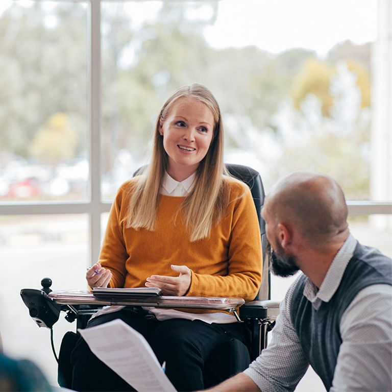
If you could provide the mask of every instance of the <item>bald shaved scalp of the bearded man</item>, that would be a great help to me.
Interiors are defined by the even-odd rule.
[[[274,184],[265,200],[275,224],[286,223],[307,243],[338,239],[348,229],[348,208],[339,184],[312,171],[295,171]]]

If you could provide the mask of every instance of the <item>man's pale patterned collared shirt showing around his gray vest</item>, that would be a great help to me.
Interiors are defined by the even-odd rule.
[[[305,283],[304,296],[315,309],[334,295],[356,244],[350,234],[332,261],[320,289],[309,279]],[[264,392],[294,390],[309,366],[290,317],[290,302],[298,279],[281,302],[271,343],[244,371]],[[380,385],[390,384],[392,369],[391,286],[374,284],[359,291],[343,313],[339,329],[342,344],[329,392],[385,390]]]

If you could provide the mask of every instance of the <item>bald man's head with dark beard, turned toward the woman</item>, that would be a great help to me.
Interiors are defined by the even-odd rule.
[[[295,171],[277,181],[263,208],[274,273],[293,275],[303,251],[328,253],[332,245],[344,242],[347,215],[344,193],[327,175]]]

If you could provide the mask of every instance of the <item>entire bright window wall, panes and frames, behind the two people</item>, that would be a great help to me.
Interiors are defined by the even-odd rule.
[[[185,84],[215,94],[227,162],[266,191],[296,169],[331,175],[354,235],[392,255],[392,0],[0,3],[0,333],[53,383],[20,288],[85,289],[116,189]],[[74,328],[58,325],[56,348]]]

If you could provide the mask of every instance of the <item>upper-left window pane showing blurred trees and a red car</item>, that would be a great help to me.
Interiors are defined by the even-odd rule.
[[[87,5],[0,15],[0,201],[87,199]]]

